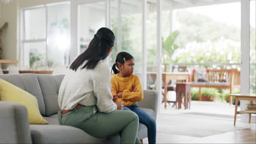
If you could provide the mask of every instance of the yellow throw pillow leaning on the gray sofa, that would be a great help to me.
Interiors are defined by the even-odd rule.
[[[30,124],[48,123],[40,115],[36,97],[3,79],[0,79],[0,97],[2,101],[13,101],[26,106]]]

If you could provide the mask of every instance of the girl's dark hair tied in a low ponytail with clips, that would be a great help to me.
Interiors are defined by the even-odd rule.
[[[115,74],[119,73],[118,68],[118,63],[123,64],[125,63],[125,61],[128,61],[130,59],[134,59],[132,55],[130,55],[130,53],[128,52],[119,52],[117,55],[117,58],[115,59],[115,63],[112,66],[112,70],[114,71]],[[111,71],[112,73],[112,71]]]

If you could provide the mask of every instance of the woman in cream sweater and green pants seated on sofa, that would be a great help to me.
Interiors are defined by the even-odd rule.
[[[59,91],[59,122],[95,137],[121,132],[120,143],[140,143],[137,115],[122,110],[123,104],[112,100],[110,69],[104,59],[114,41],[110,29],[98,29],[88,49],[70,65]]]

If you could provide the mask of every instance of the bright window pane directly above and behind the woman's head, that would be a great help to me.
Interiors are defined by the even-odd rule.
[[[78,38],[80,53],[89,45],[94,34],[105,26],[105,2],[78,5]]]

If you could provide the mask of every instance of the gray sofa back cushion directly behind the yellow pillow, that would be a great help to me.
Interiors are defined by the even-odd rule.
[[[3,79],[34,95],[34,97],[37,98],[41,115],[45,115],[44,98],[35,74],[5,74],[0,75],[0,79]]]

